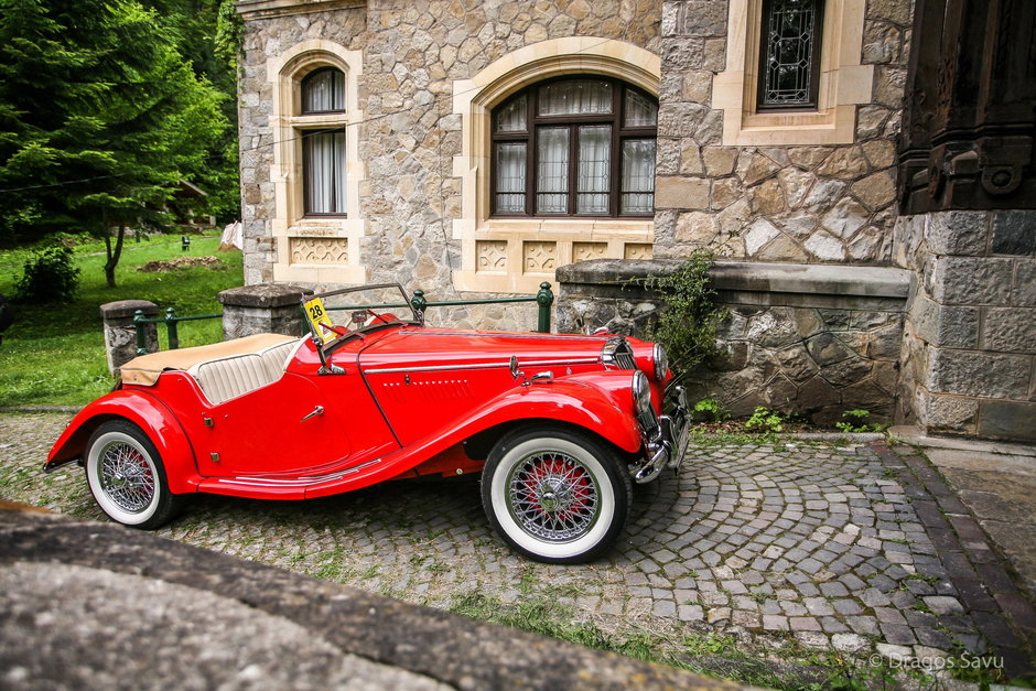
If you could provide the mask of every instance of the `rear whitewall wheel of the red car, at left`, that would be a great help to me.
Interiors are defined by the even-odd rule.
[[[143,530],[172,520],[184,499],[169,490],[162,458],[148,435],[123,420],[106,422],[90,435],[86,479],[109,518]]]

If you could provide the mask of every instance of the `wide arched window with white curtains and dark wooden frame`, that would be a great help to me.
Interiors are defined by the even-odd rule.
[[[650,216],[658,100],[617,79],[554,79],[493,110],[494,216]]]

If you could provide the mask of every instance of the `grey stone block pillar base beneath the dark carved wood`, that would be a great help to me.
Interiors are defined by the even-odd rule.
[[[916,272],[898,421],[1036,439],[1036,212],[937,212],[896,225]]]

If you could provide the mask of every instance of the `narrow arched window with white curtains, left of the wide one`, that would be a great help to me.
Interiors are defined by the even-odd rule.
[[[303,208],[306,216],[346,213],[345,128],[328,128],[324,120],[309,125],[305,116],[345,112],[345,73],[322,67],[302,79],[301,118]]]

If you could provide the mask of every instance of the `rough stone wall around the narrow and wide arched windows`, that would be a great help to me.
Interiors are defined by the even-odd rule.
[[[454,173],[454,158],[463,148],[454,84],[471,79],[493,61],[550,39],[597,36],[656,54],[659,50],[661,0],[301,4],[282,2],[256,13],[240,7],[246,19],[240,131],[248,284],[272,281],[274,264],[289,261],[278,256],[272,230],[276,223],[293,219],[277,220],[285,212],[278,207],[283,199],[277,198],[271,181],[277,123],[268,69],[293,46],[324,41],[361,52],[358,95],[355,104],[347,104],[363,112],[363,121],[355,126],[365,166],[358,203],[359,263],[371,282],[398,281],[408,291],[421,288],[436,300],[462,296],[452,281],[462,251],[452,222],[464,203],[461,179]],[[337,9],[321,11],[328,7]],[[339,242],[344,246],[344,240]],[[309,284],[313,283],[320,280]],[[463,295],[473,296],[477,294]],[[436,318],[482,327],[526,327],[521,312],[455,309]]]

